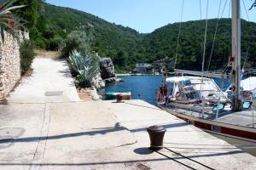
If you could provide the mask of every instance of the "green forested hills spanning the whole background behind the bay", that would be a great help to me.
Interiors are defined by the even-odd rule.
[[[208,20],[206,68],[211,54],[212,39],[217,20]],[[223,68],[227,64],[231,48],[231,20],[218,20],[218,31],[212,53],[210,69]],[[92,31],[92,48],[102,57],[111,57],[119,70],[131,70],[137,62],[154,62],[175,58],[179,23],[163,26],[152,33],[140,34],[124,26],[117,26],[95,15],[72,8],[56,7],[45,3],[38,19],[35,42],[41,48],[55,48],[58,37],[65,38],[70,31],[85,26]],[[242,20],[242,54],[252,66],[256,65],[256,24]],[[177,50],[177,68],[200,70],[205,30],[205,20],[183,22]],[[35,34],[35,32],[32,32]]]

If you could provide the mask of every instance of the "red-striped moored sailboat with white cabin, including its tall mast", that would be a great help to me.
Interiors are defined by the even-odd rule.
[[[201,77],[166,77],[157,105],[207,132],[256,142],[253,102],[241,91],[240,0],[232,0],[231,98],[205,76],[202,71]]]

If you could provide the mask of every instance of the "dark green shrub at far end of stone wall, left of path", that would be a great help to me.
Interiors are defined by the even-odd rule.
[[[35,53],[32,42],[25,40],[20,43],[20,66],[22,74],[30,69]]]

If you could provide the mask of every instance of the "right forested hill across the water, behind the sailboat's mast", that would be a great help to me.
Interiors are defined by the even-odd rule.
[[[215,70],[227,65],[231,50],[231,20],[218,20],[218,29],[212,50],[212,42],[217,20],[208,20],[206,65],[212,51],[210,69]],[[183,22],[177,50],[179,23],[163,26],[143,38],[145,54],[150,61],[168,56],[173,60],[177,52],[177,68],[201,70],[201,56],[204,42],[205,20]],[[241,20],[241,55],[247,58],[247,66],[256,64],[256,24]],[[248,49],[248,54],[247,54]],[[164,55],[163,55],[164,54]],[[253,62],[250,62],[253,61]],[[243,64],[243,62],[242,62]]]

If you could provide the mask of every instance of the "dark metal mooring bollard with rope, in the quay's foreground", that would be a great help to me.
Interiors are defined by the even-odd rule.
[[[152,126],[147,128],[149,138],[150,138],[150,149],[160,150],[163,146],[164,136],[166,133],[166,128],[162,126]]]

